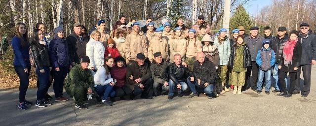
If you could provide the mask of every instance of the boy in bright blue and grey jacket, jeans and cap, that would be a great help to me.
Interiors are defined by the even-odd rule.
[[[276,53],[270,48],[270,40],[262,41],[263,47],[258,51],[256,63],[259,65],[257,94],[262,92],[263,77],[266,78],[265,93],[270,94],[272,66],[276,63]]]

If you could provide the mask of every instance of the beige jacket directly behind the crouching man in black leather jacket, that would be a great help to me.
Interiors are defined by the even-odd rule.
[[[173,56],[175,54],[180,54],[181,55],[181,58],[182,60],[184,60],[184,57],[186,55],[186,46],[187,46],[187,41],[185,38],[183,37],[177,37],[175,39],[170,39],[169,41],[169,48],[170,48],[170,63],[173,63],[174,62],[174,58]]]

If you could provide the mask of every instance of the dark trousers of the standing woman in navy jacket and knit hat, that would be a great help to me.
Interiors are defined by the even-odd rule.
[[[63,96],[63,88],[64,88],[64,80],[67,76],[69,67],[59,67],[59,71],[54,70],[53,78],[54,84],[53,89],[55,93],[55,97],[62,97]]]

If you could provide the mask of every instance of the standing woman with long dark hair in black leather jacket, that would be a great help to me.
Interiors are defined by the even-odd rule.
[[[40,29],[36,29],[32,33],[31,50],[36,65],[36,74],[38,75],[38,92],[35,105],[38,107],[46,107],[47,105],[51,105],[45,100],[51,67],[49,63],[48,45],[44,41],[43,31]]]

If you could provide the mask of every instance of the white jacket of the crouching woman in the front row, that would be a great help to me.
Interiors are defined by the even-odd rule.
[[[100,67],[98,71],[94,74],[94,87],[96,87],[97,85],[105,86],[113,81],[114,80],[111,77],[110,73],[106,75],[106,69],[103,66]]]

